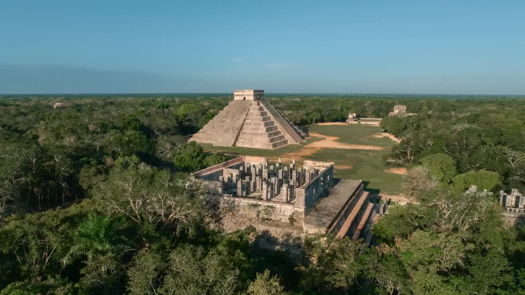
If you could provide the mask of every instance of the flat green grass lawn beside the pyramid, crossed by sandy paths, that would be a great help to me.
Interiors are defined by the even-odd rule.
[[[348,149],[318,149],[311,154],[301,155],[296,158],[297,165],[302,165],[304,160],[328,161],[335,163],[335,177],[343,179],[362,180],[366,191],[396,195],[400,192],[401,175],[385,172],[389,168],[383,165],[382,157],[390,153],[390,147],[395,143],[384,137],[374,137],[381,133],[380,127],[370,125],[311,125],[304,127],[309,132],[320,133],[327,136],[337,136],[338,141],[344,143],[382,146],[384,150],[348,150]],[[312,137],[301,145],[287,145],[277,150],[259,150],[248,148],[224,148],[211,144],[201,144],[204,150],[234,155],[265,156],[272,160],[278,157],[289,157],[285,154],[300,152],[308,143],[322,140]],[[308,148],[307,148],[308,149]],[[307,150],[305,149],[305,150]],[[283,156],[284,155],[284,156]],[[289,164],[283,161],[285,164]]]

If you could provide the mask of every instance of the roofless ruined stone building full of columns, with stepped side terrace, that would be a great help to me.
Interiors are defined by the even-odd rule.
[[[193,173],[222,204],[236,210],[267,210],[272,219],[301,220],[304,233],[332,233],[338,237],[367,238],[376,214],[363,191],[363,182],[335,180],[330,162],[304,161],[296,167],[267,158],[239,156]]]

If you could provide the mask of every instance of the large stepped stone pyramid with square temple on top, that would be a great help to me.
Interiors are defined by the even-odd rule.
[[[264,90],[235,90],[234,100],[190,141],[268,150],[303,142],[304,133],[263,97]]]

